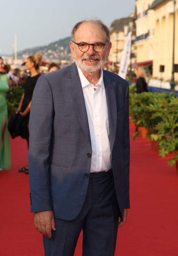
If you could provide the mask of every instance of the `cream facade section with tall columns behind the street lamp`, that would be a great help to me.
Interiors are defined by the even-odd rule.
[[[172,75],[173,59],[173,2],[154,1],[151,6],[154,11],[155,37],[153,50],[153,78],[169,81]],[[168,3],[168,4],[167,4]],[[173,9],[172,9],[173,7]],[[174,64],[178,64],[178,3],[175,10]],[[162,72],[160,69],[162,66]],[[178,70],[175,70],[178,72]],[[175,81],[178,81],[178,73]]]

